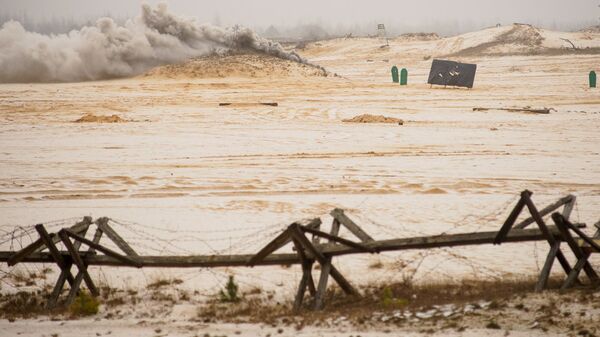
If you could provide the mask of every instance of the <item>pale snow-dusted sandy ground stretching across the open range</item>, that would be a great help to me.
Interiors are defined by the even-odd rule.
[[[0,228],[39,222],[57,228],[84,215],[108,216],[142,253],[252,253],[293,221],[322,216],[329,223],[334,207],[347,209],[380,239],[493,230],[523,189],[534,191],[539,206],[575,193],[574,220],[591,224],[600,218],[600,95],[587,88],[588,72],[600,70],[597,55],[458,58],[478,64],[475,87],[467,90],[425,84],[428,57],[440,41],[379,46],[374,39],[339,39],[302,52],[337,77],[0,84]],[[392,65],[408,68],[407,87],[391,83]],[[244,104],[219,107],[222,102]],[[278,106],[246,104],[256,102]],[[506,106],[555,111],[472,111]],[[73,123],[88,113],[117,114],[128,122]],[[404,125],[342,122],[361,114],[399,118]],[[543,243],[513,244],[335,263],[358,284],[404,273],[417,282],[460,280],[534,274],[546,251]],[[376,262],[384,267],[367,269]],[[600,263],[597,257],[592,262]],[[41,266],[20,268],[26,273]],[[117,288],[178,277],[206,296],[222,288],[228,274],[242,288],[261,287],[287,301],[300,278],[295,267],[92,269]],[[1,289],[17,290],[7,283]],[[187,323],[175,321],[168,326],[185,333],[169,335],[189,335]],[[156,329],[136,322],[93,324],[97,331],[121,326],[120,335]],[[2,321],[0,329],[24,336],[56,329],[70,336],[87,333],[92,323],[60,324]],[[206,327],[221,334],[214,329],[221,327]],[[256,325],[223,329],[225,335],[238,329],[242,335],[275,335]],[[309,332],[315,334],[339,335]]]

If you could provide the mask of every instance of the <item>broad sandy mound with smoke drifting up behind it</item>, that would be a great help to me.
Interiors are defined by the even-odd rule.
[[[211,55],[152,69],[145,77],[157,78],[224,78],[327,76],[318,66],[285,60],[271,55],[246,53]]]

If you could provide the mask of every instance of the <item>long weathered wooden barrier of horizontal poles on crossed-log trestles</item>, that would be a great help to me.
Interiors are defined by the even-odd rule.
[[[521,193],[519,201],[499,231],[375,240],[344,210],[334,209],[330,213],[333,222],[329,232],[321,230],[322,222],[319,218],[305,224],[294,222],[256,254],[238,255],[138,255],[110,226],[109,218],[103,217],[93,221],[91,217],[84,217],[75,225],[53,233],[49,233],[43,224],[36,225],[35,230],[39,237],[19,251],[0,251],[0,261],[7,262],[9,266],[18,263],[56,264],[61,272],[48,299],[48,308],[58,306],[65,283],[69,284],[70,289],[64,305],[73,302],[82,284],[85,284],[93,296],[97,296],[99,291],[88,272],[90,266],[215,268],[299,264],[302,267],[302,277],[296,292],[294,309],[300,310],[305,307],[305,296],[308,291],[312,296],[310,307],[318,310],[324,306],[329,276],[346,294],[360,296],[357,289],[333,265],[332,260],[336,256],[507,242],[548,242],[549,253],[535,287],[537,291],[546,288],[554,260],[559,261],[567,275],[562,288],[583,283],[579,277],[581,271],[586,274],[590,282],[599,282],[598,274],[589,263],[589,257],[592,253],[600,252],[600,222],[595,225],[598,228],[596,233],[588,236],[581,231],[585,225],[574,224],[569,220],[576,202],[575,196],[565,196],[541,210],[537,209],[531,196],[530,191]],[[562,212],[556,212],[561,207]],[[515,224],[525,209],[531,216]],[[544,217],[550,214],[554,225],[544,221]],[[537,228],[527,228],[532,224],[536,224]],[[95,228],[92,239],[86,238],[90,228]],[[341,237],[341,229],[349,231],[356,240]],[[104,236],[119,251],[101,243]],[[563,242],[567,245],[561,247]],[[276,253],[288,244],[293,245],[293,253]],[[86,246],[87,250],[83,250],[82,246]],[[576,261],[573,265],[567,260],[564,249],[571,250],[575,256]],[[315,264],[320,266],[318,283],[313,279]],[[77,270],[75,275],[71,272],[73,267]]]

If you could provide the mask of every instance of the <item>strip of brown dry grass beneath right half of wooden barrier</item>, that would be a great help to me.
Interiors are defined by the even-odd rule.
[[[305,299],[307,310],[300,316],[306,324],[318,323],[327,317],[345,316],[357,322],[373,312],[402,310],[426,310],[434,305],[466,305],[480,301],[489,301],[490,310],[506,307],[506,300],[533,293],[536,279],[499,279],[499,280],[463,280],[460,283],[431,282],[414,284],[412,278],[392,284],[370,285],[360,289],[360,298],[347,296],[337,286],[330,287],[325,296],[326,310],[314,312],[310,308],[310,296]],[[549,282],[550,288],[558,288],[562,279]],[[269,323],[285,317],[296,316],[288,303],[273,303],[272,300],[242,299],[236,305],[209,303],[199,309],[199,315],[205,321],[240,320],[244,317],[250,322]]]

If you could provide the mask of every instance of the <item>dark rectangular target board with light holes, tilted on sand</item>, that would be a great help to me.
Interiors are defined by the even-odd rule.
[[[427,83],[473,88],[476,64],[433,60]]]

